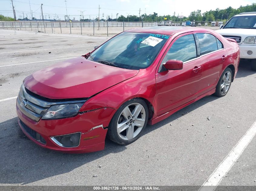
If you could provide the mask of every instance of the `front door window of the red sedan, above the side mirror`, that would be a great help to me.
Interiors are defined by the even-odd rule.
[[[193,34],[178,38],[168,50],[162,63],[168,60],[181,60],[182,62],[196,58],[196,46]]]

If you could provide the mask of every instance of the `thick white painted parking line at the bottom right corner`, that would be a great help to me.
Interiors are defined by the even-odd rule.
[[[256,121],[198,191],[214,191],[256,134]]]

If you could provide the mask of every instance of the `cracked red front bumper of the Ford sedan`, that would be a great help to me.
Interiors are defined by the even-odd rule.
[[[18,123],[22,131],[41,147],[65,153],[87,153],[100,151],[105,148],[106,127],[116,110],[105,107],[79,113],[71,118],[40,119],[38,122],[24,115],[18,105],[16,105],[16,111]],[[62,144],[58,144],[53,138],[72,133],[79,133],[80,135],[78,146],[63,147]]]

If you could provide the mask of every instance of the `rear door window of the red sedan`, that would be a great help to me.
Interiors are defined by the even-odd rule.
[[[196,33],[196,35],[201,48],[200,56],[218,50],[216,37],[208,33]]]

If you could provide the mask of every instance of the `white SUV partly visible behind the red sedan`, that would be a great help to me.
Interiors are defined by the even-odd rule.
[[[250,59],[251,69],[256,71],[256,12],[235,15],[216,32],[236,40],[240,48],[240,58]]]

